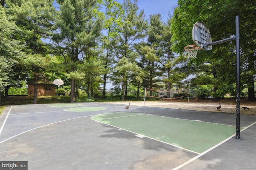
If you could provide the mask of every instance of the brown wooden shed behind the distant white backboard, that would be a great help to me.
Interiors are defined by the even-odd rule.
[[[28,80],[28,96],[34,95],[34,80]],[[38,80],[37,83],[37,95],[38,96],[55,96],[56,85],[52,81]]]

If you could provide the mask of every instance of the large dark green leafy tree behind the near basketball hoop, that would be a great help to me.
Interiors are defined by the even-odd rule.
[[[241,90],[248,88],[248,96],[254,98],[255,81],[255,2],[253,0],[179,0],[172,20],[172,42],[174,51],[183,53],[186,45],[192,41],[192,27],[196,21],[204,21],[212,36],[212,41],[229,38],[236,34],[235,17],[240,16],[240,61],[241,61]],[[254,44],[254,45],[253,45]],[[202,71],[204,65],[212,65],[212,82],[214,92],[233,93],[235,89],[236,42],[230,41],[214,45],[212,51],[200,50],[197,58],[190,61],[197,70]],[[250,85],[249,85],[250,84]],[[229,88],[226,88],[226,87]]]

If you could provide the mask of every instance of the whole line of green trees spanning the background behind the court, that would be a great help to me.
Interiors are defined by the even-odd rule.
[[[235,35],[240,16],[241,91],[255,99],[256,1],[178,0],[167,21],[145,16],[138,0],[0,0],[0,92],[38,80],[60,78],[70,90],[89,98],[106,96],[106,84],[127,96],[127,89],[213,88],[211,96],[235,96],[236,42],[184,53],[192,27],[204,21],[212,41]],[[170,7],[171,8],[171,7]],[[170,9],[172,10],[172,9]],[[101,87],[102,85],[103,87]],[[1,96],[1,95],[0,95]],[[167,96],[169,97],[169,96]]]

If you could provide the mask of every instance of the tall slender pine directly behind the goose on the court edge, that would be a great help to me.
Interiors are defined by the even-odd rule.
[[[145,21],[144,11],[138,12],[138,0],[124,0],[124,16],[120,32],[120,39],[117,45],[118,60],[128,60],[129,63],[134,63],[137,53],[135,53],[136,41],[141,41],[145,36],[147,22]],[[121,64],[121,63],[119,63]],[[114,73],[115,74],[115,73]],[[127,94],[127,78],[128,74],[122,72],[122,100]]]

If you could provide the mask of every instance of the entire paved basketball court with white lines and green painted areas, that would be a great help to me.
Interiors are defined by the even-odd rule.
[[[29,170],[256,169],[256,116],[121,104],[7,106],[0,161]]]

